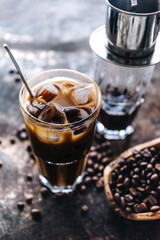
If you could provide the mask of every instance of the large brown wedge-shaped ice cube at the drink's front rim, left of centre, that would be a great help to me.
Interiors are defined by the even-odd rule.
[[[63,109],[55,103],[47,104],[45,109],[40,113],[38,119],[56,124],[64,124],[66,122],[66,116]]]

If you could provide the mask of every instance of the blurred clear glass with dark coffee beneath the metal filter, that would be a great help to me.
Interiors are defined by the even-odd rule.
[[[122,140],[134,132],[133,121],[152,78],[154,65],[129,66],[96,56],[94,80],[102,92],[97,131],[106,139]]]

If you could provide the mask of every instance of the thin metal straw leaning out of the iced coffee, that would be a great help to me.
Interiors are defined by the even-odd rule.
[[[16,62],[13,54],[11,53],[11,51],[10,51],[10,49],[9,49],[9,47],[8,47],[8,45],[5,43],[5,44],[3,44],[3,47],[5,48],[5,50],[7,51],[7,53],[9,54],[9,56],[10,56],[13,64],[15,65],[15,67],[16,67],[19,75],[21,76],[21,79],[22,79],[23,83],[25,84],[25,86],[26,86],[26,88],[27,88],[27,90],[28,90],[31,98],[34,98],[34,95],[33,95],[32,91],[31,91],[31,89],[29,88],[28,83],[27,83],[26,79],[24,78],[24,76],[23,76],[23,74],[22,74],[22,72],[21,72],[21,69],[20,69],[20,67],[18,66],[18,63]]]

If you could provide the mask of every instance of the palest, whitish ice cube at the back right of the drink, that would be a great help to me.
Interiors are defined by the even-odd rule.
[[[78,105],[87,104],[91,101],[91,86],[81,87],[73,91],[73,97]]]

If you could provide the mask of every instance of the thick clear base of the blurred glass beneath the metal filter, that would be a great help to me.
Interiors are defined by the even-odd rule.
[[[124,140],[128,135],[134,132],[134,127],[129,125],[123,130],[109,130],[104,127],[101,122],[97,122],[96,130],[98,133],[104,135],[105,139],[108,140]]]

